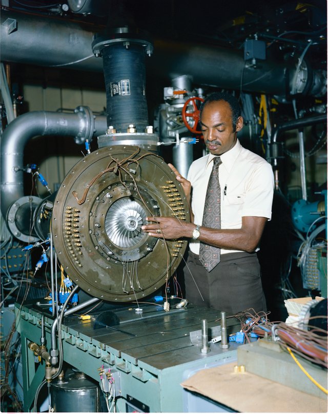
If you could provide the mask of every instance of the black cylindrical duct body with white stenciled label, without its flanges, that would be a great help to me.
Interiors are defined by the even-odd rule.
[[[126,49],[113,44],[102,51],[107,97],[107,126],[127,132],[133,124],[137,132],[148,126],[145,50],[140,45]]]

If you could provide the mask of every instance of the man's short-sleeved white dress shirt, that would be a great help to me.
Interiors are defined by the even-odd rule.
[[[191,208],[194,223],[201,225],[207,186],[215,155],[195,160],[189,169],[192,185]],[[219,181],[221,188],[221,229],[240,229],[244,216],[271,219],[274,177],[271,165],[262,157],[243,148],[237,140],[235,146],[221,156]],[[199,254],[199,240],[190,242],[190,250]],[[221,254],[240,252],[221,249]]]

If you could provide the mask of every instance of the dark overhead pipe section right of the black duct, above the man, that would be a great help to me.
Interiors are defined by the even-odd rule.
[[[194,84],[218,88],[240,89],[241,84],[243,91],[284,95],[289,84],[285,62],[268,58],[261,68],[253,68],[245,64],[243,51],[217,46],[155,40],[154,54],[147,63],[157,75],[188,74]]]

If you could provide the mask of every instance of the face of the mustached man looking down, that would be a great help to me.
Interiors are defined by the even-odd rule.
[[[236,130],[232,126],[232,111],[224,100],[208,102],[201,113],[201,131],[211,154],[221,155],[229,151],[237,141],[236,132],[243,125],[242,117],[237,120]]]

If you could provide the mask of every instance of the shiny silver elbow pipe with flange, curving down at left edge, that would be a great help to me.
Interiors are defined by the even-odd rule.
[[[20,115],[1,137],[1,211],[6,217],[10,205],[24,196],[23,161],[27,142],[38,135],[73,136],[77,143],[104,134],[106,116],[94,118],[87,107],[76,113],[35,111]]]

